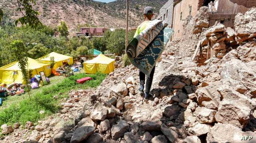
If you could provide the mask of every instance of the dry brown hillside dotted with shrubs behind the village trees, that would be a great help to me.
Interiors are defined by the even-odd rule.
[[[16,12],[15,0],[1,0],[0,7],[12,19],[21,16]],[[142,22],[145,6],[154,6],[157,12],[167,0],[130,0],[130,27]],[[40,12],[40,20],[45,25],[55,26],[60,21],[67,22],[69,30],[76,32],[78,25],[95,25],[102,27],[124,28],[126,16],[126,0],[102,3],[92,0],[37,0],[34,6]],[[156,17],[156,16],[155,16]]]

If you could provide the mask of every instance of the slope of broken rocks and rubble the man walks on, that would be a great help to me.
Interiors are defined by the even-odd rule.
[[[27,129],[5,127],[12,133],[3,141],[255,143],[255,15],[256,8],[236,16],[233,39],[232,30],[221,24],[196,33],[214,41],[214,51],[223,57],[215,55],[200,63],[201,53],[194,63],[194,47],[182,40],[170,42],[156,65],[150,100],[137,91],[138,69],[118,68],[97,90],[71,91],[58,118],[39,121],[36,127],[28,122]],[[238,45],[230,45],[234,41]],[[74,112],[76,116],[71,116]]]

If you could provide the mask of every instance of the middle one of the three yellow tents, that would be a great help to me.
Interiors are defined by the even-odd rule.
[[[55,69],[55,70],[58,67],[61,67],[63,65],[62,64],[63,62],[68,63],[68,65],[73,64],[73,57],[62,55],[62,54],[55,53],[55,52],[52,52],[43,57],[40,57],[40,58],[38,58],[38,60],[42,61],[42,62],[44,62],[44,61],[49,62],[49,61],[51,61],[50,57],[54,57],[55,65],[54,65],[53,69]]]

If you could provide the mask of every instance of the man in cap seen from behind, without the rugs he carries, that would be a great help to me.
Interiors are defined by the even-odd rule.
[[[139,35],[140,32],[142,32],[148,26],[148,24],[150,24],[151,19],[152,19],[153,16],[154,16],[153,8],[150,7],[150,6],[146,7],[144,9],[144,19],[145,19],[145,21],[142,22],[142,24],[140,24],[138,26],[134,37]],[[150,88],[151,88],[151,85],[152,85],[152,80],[153,80],[154,72],[155,72],[155,67],[150,72],[150,75],[147,76],[145,96],[144,96],[145,100],[147,100],[150,96],[152,96],[150,94]],[[139,91],[140,92],[144,92],[144,84],[145,84],[145,76],[146,75],[142,71],[140,71],[139,75],[140,75],[140,89],[139,89]]]

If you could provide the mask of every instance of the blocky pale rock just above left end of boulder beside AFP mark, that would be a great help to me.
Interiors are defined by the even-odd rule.
[[[198,107],[194,114],[200,123],[213,123],[215,121],[214,116],[216,111],[204,107]]]

